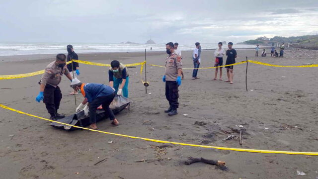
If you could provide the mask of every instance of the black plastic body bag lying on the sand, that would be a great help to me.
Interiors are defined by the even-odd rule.
[[[127,107],[131,102],[133,102],[131,99],[124,97],[122,95],[116,95],[113,101],[110,103],[109,108],[113,111],[114,114],[119,113],[120,111],[124,110],[125,107]],[[107,113],[103,109],[97,109],[96,111],[96,122],[99,122],[101,120],[104,120],[108,118]],[[81,110],[75,114],[72,114],[70,116],[66,116],[62,119],[57,120],[57,122],[62,122],[66,124],[76,125],[80,127],[85,127],[89,125],[89,115],[85,116],[84,111]],[[78,128],[59,124],[56,122],[52,122],[51,126],[64,129],[64,130],[76,130]]]

